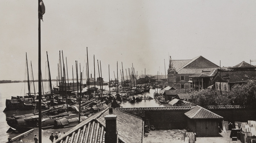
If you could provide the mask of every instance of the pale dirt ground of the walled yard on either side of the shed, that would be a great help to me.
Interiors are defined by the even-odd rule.
[[[184,143],[183,133],[186,130],[154,130],[144,134],[143,143]],[[218,137],[197,137],[195,143],[241,143],[232,141],[230,130],[220,133]]]

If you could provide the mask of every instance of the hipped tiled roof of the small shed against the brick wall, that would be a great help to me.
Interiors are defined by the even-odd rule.
[[[203,107],[195,106],[190,111],[184,113],[190,119],[220,119],[223,118]]]

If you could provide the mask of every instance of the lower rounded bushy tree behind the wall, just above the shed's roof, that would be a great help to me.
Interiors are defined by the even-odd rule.
[[[194,104],[206,107],[206,106],[218,106],[218,105],[230,105],[231,99],[228,94],[220,95],[216,90],[200,90],[192,95]]]

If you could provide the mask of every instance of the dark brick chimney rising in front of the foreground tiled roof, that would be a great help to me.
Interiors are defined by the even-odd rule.
[[[105,129],[105,143],[118,143],[116,131],[116,117],[117,115],[106,115],[106,129]]]

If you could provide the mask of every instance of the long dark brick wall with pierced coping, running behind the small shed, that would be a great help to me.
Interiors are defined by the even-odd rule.
[[[188,117],[184,114],[193,107],[148,107],[116,108],[137,117],[148,119],[156,129],[186,129]],[[242,106],[209,106],[211,112],[223,117],[224,121],[247,122],[256,120],[256,109]],[[221,125],[221,122],[219,123]]]

